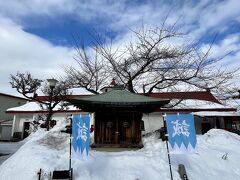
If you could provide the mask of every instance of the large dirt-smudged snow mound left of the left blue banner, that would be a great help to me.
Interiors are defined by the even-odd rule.
[[[60,133],[63,127],[64,124],[58,125],[49,132],[39,129],[30,135],[26,143],[0,166],[0,179],[36,179],[40,168],[52,171],[59,166],[59,160],[67,161],[67,135]]]

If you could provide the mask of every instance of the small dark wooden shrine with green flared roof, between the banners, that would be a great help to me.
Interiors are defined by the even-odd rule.
[[[68,99],[85,112],[95,114],[95,147],[141,147],[143,113],[151,113],[170,100],[131,93],[114,87],[102,94]]]

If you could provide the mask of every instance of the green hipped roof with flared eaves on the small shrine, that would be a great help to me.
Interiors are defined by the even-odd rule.
[[[98,94],[90,97],[68,99],[68,102],[86,111],[96,111],[103,109],[112,110],[141,110],[151,111],[169,103],[169,100],[152,98],[131,93],[124,89],[112,89],[110,92]]]

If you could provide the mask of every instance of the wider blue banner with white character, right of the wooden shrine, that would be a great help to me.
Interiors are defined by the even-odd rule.
[[[168,114],[166,124],[168,141],[172,149],[195,149],[197,140],[192,114]]]

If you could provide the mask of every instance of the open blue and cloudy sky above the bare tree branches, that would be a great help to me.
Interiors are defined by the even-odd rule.
[[[240,66],[239,0],[8,0],[0,2],[0,92],[16,94],[8,81],[17,71],[46,79],[63,73],[74,56],[73,36],[91,46],[93,30],[115,44],[130,29],[159,26],[166,18],[205,48],[218,34],[211,58],[230,51],[223,65]]]

